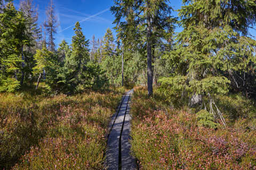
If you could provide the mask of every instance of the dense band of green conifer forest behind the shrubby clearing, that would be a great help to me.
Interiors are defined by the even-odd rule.
[[[32,1],[21,1],[18,10],[1,1],[0,90],[44,82],[52,92],[69,93],[120,86],[124,77],[127,86],[147,82],[149,95],[154,82],[199,100],[228,91],[255,98],[253,1],[183,1],[179,18],[167,1],[124,2],[111,7],[116,39],[110,29],[102,39],[86,39],[76,23],[72,43],[56,48],[52,1],[43,25]],[[183,31],[174,34],[177,25]]]

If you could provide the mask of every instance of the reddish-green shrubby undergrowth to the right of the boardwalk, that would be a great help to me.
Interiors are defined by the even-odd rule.
[[[221,100],[223,114],[234,123],[208,128],[193,109],[172,106],[157,90],[148,98],[146,89],[137,88],[131,143],[140,169],[256,169],[256,131],[247,128],[255,122],[255,106],[237,95],[219,97],[219,105]]]

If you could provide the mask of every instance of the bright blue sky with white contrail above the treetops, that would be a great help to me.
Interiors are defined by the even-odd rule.
[[[20,0],[14,0],[14,5],[19,8]],[[45,19],[45,10],[49,5],[50,0],[34,0],[34,5],[38,7],[39,19],[38,24],[42,24]],[[59,20],[58,33],[55,35],[55,44],[58,46],[63,39],[69,44],[74,36],[74,25],[77,21],[81,22],[83,33],[87,39],[102,38],[107,28],[115,27],[112,22],[114,15],[111,14],[109,8],[114,5],[113,0],[53,0],[55,4],[56,14]],[[181,0],[171,1],[171,6],[174,10],[181,7]],[[174,12],[174,16],[177,16]],[[181,29],[177,28],[177,32]],[[113,32],[115,32],[113,30]],[[255,30],[251,30],[253,35],[256,35]]]

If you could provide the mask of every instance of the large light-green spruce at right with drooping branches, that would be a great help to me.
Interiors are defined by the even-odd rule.
[[[249,63],[255,63],[256,41],[246,35],[255,24],[256,5],[252,1],[183,3],[179,15],[184,29],[169,55],[175,76],[163,79],[162,87],[189,94],[190,106],[210,101],[210,113],[225,124],[213,99],[228,92],[230,80],[224,72],[246,71]]]

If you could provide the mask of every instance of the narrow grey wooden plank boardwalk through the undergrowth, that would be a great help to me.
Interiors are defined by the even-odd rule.
[[[130,99],[133,90],[122,97],[117,112],[111,118],[107,141],[106,166],[108,170],[137,169],[135,159],[130,155],[131,115]]]

